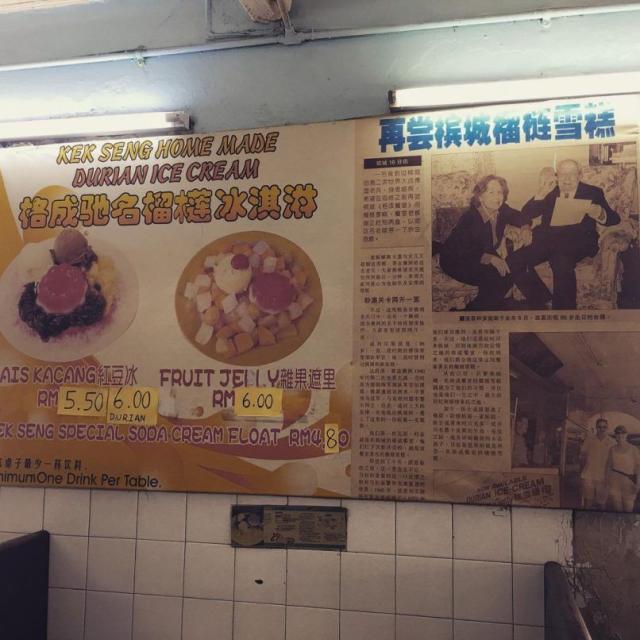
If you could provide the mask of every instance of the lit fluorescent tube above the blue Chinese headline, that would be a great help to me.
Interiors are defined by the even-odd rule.
[[[389,91],[392,111],[640,92],[640,72],[436,85]]]

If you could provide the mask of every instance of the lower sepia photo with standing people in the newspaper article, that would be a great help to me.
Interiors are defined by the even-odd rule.
[[[640,333],[511,333],[514,470],[557,475],[560,506],[640,511]]]

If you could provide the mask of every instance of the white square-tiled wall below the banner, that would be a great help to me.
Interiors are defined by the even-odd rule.
[[[5,487],[0,540],[52,534],[49,640],[542,640],[572,562],[569,511],[344,500],[343,553],[236,550],[236,501],[287,499]]]

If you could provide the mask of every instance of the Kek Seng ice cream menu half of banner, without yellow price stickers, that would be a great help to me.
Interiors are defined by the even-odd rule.
[[[3,151],[2,482],[349,495],[352,149],[340,123]],[[157,420],[60,415],[68,386],[154,389]],[[250,387],[280,415],[236,416]]]

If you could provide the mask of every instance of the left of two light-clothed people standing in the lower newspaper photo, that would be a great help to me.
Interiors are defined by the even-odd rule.
[[[585,509],[604,509],[607,503],[607,461],[609,449],[615,444],[607,434],[608,429],[609,423],[598,418],[596,434],[587,436],[580,451],[580,485]]]

